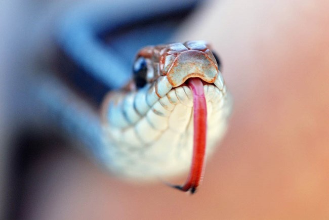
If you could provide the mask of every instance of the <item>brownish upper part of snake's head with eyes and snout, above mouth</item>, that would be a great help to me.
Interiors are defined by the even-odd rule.
[[[214,83],[219,69],[219,58],[208,43],[193,40],[143,48],[134,64],[134,79],[137,87],[163,76],[172,87],[178,87],[192,77]]]

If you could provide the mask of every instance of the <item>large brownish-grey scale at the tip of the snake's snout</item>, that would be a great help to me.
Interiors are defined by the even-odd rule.
[[[168,80],[173,87],[180,86],[192,77],[213,83],[217,75],[218,67],[212,58],[197,50],[189,50],[179,54],[167,72]]]

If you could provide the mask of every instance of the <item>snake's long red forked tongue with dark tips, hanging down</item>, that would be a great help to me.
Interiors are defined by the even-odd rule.
[[[199,78],[188,79],[187,85],[193,92],[194,134],[192,165],[186,183],[183,186],[175,186],[175,188],[184,192],[191,191],[193,194],[200,184],[204,169],[207,104],[205,103],[203,84]]]

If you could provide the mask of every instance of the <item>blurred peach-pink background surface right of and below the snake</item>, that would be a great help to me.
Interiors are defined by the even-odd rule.
[[[183,25],[176,40],[211,42],[234,96],[195,195],[121,182],[78,151],[54,150],[28,171],[23,216],[329,218],[328,9],[325,0],[213,1]]]

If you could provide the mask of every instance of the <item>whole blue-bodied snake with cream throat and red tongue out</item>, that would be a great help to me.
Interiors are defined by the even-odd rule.
[[[95,107],[52,71],[39,74],[35,95],[45,106],[46,117],[83,143],[111,173],[152,182],[188,172],[183,185],[169,185],[194,193],[232,109],[218,55],[203,40],[145,46],[135,56],[132,74],[121,74],[128,68],[99,65],[102,62],[97,66],[96,58],[120,61],[91,34],[99,31],[95,22],[100,21],[79,15],[71,12],[64,19],[59,42],[75,62],[114,88],[106,89]]]

